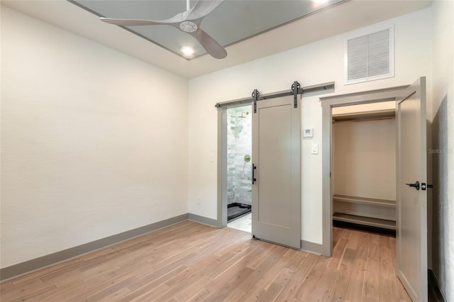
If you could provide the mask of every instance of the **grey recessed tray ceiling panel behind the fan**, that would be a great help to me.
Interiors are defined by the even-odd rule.
[[[196,0],[188,1],[190,7],[196,4]],[[204,17],[201,28],[220,45],[228,46],[271,28],[296,21],[339,1],[345,0],[223,0],[214,11]],[[70,0],[70,2],[100,17],[153,21],[171,18],[187,9],[185,0]],[[184,55],[181,48],[192,47],[194,55],[186,57],[187,60],[206,54],[192,35],[173,26],[125,26],[125,29],[182,57]]]

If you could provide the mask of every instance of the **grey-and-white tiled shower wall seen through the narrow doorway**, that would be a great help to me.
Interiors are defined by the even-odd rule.
[[[240,116],[243,116],[241,118]],[[251,106],[227,110],[227,203],[252,201],[252,112]],[[251,160],[245,161],[245,155]]]

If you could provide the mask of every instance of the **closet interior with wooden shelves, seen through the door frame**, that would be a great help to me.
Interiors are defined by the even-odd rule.
[[[396,101],[333,108],[333,225],[395,235]]]

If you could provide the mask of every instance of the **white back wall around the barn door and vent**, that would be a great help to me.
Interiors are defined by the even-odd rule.
[[[395,77],[344,86],[345,38],[393,23]],[[216,102],[250,96],[253,89],[261,93],[282,91],[295,80],[302,86],[335,81],[336,94],[411,84],[421,76],[428,77],[431,85],[430,59],[431,10],[424,9],[189,80],[189,212],[216,219],[216,163],[209,161],[209,155],[216,154]],[[314,128],[314,138],[304,139],[301,149],[301,239],[321,244],[321,155],[310,152],[314,143],[321,150],[319,96],[304,97],[302,124],[304,128]],[[201,204],[197,204],[197,196],[202,197]]]

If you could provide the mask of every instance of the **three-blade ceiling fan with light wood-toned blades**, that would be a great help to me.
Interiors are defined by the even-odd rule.
[[[211,11],[214,11],[223,0],[198,0],[192,8],[189,7],[187,0],[187,10],[177,13],[172,18],[165,20],[136,20],[136,19],[116,19],[100,18],[106,23],[118,26],[149,26],[149,25],[170,25],[182,30],[184,33],[192,35],[205,48],[211,57],[223,59],[227,56],[226,50],[219,45],[208,33],[200,28],[200,23]]]

